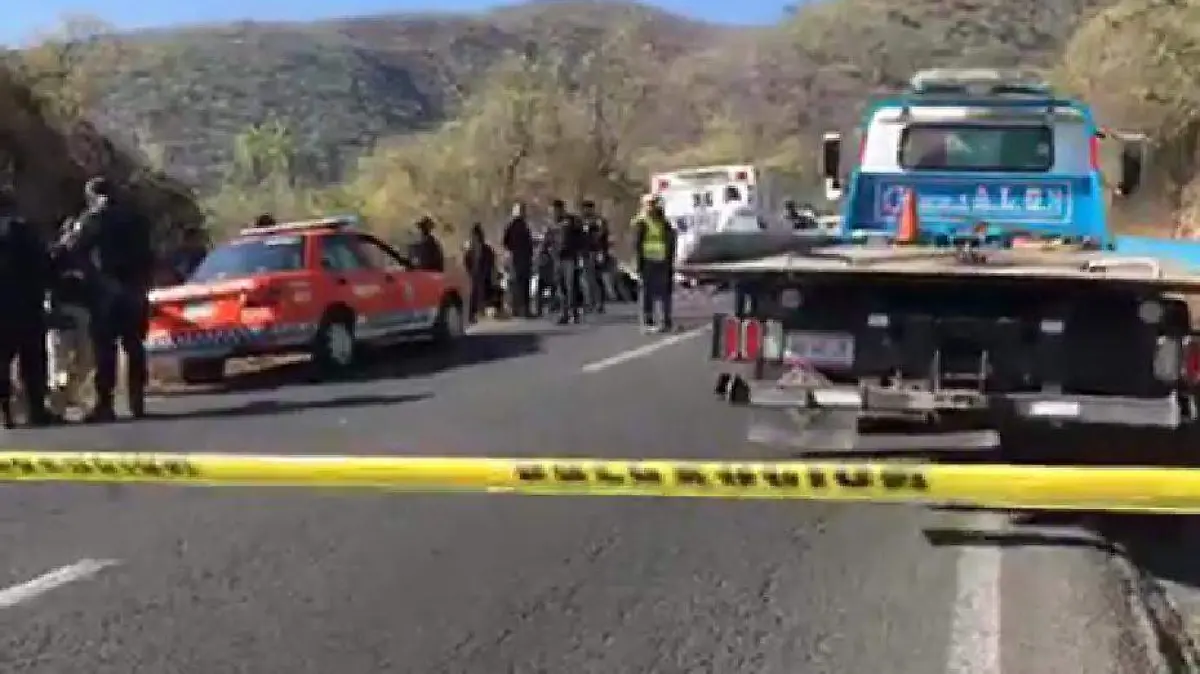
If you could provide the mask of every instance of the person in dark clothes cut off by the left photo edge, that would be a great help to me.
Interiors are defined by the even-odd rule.
[[[30,426],[56,421],[46,409],[46,293],[50,259],[34,227],[17,216],[16,195],[0,187],[0,421],[16,425],[12,363],[19,363]]]

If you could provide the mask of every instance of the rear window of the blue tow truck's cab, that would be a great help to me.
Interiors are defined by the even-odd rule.
[[[900,137],[910,170],[1048,171],[1054,131],[1034,125],[910,125]]]

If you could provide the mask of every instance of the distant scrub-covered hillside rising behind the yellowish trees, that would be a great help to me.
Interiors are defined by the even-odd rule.
[[[731,94],[740,122],[793,133],[845,118],[865,91],[914,67],[1048,60],[1080,14],[1103,4],[827,0],[762,30],[587,0],[479,16],[188,28],[122,38],[96,112],[103,128],[154,145],[168,170],[203,186],[221,180],[236,133],[277,115],[305,175],[329,182],[379,139],[455,116],[506,54],[535,44],[569,61],[634,30],[668,84],[658,110],[666,140],[695,140],[697,118],[727,107]]]

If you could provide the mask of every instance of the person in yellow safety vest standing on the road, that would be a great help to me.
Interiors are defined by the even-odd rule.
[[[662,201],[649,195],[634,217],[637,241],[637,275],[642,279],[642,331],[671,332],[672,283],[674,281],[676,231],[662,212]],[[662,307],[662,321],[655,327],[654,305]]]

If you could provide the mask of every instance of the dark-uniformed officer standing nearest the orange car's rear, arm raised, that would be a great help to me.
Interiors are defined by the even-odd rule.
[[[149,293],[155,269],[150,222],[124,204],[109,182],[92,177],[84,186],[88,210],[71,236],[61,242],[64,254],[91,260],[95,266],[92,343],[96,355],[96,407],[88,422],[115,419],[118,345],[128,372],[130,414],[145,415],[145,337],[150,325]]]

